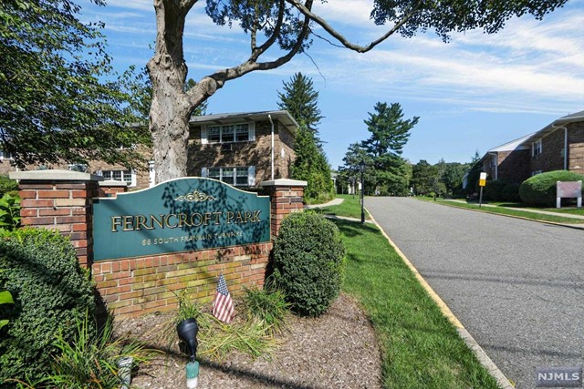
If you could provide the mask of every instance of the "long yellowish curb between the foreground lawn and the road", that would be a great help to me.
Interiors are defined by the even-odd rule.
[[[410,268],[418,282],[422,284],[423,289],[426,292],[428,292],[433,301],[436,302],[436,304],[440,307],[440,311],[443,312],[443,315],[448,319],[449,322],[451,322],[454,325],[459,336],[464,340],[464,343],[466,343],[468,348],[470,348],[474,352],[474,355],[476,355],[476,358],[479,360],[479,362],[482,363],[483,366],[485,366],[485,369],[491,375],[493,375],[493,377],[495,377],[497,384],[499,384],[499,386],[503,389],[514,389],[513,385],[510,383],[509,379],[505,376],[505,374],[501,372],[501,370],[496,366],[493,360],[491,360],[491,358],[485,353],[483,347],[481,347],[481,345],[474,340],[473,335],[466,331],[463,323],[460,322],[456,318],[456,316],[454,316],[454,313],[450,310],[450,308],[448,308],[448,305],[446,305],[446,303],[443,302],[440,296],[436,292],[434,292],[432,286],[430,286],[430,284],[423,279],[422,274],[420,274],[420,271],[418,271],[415,268],[415,266],[413,266],[412,262],[408,260],[408,258],[405,256],[403,252],[401,252],[400,248],[393,241],[391,241],[389,235],[385,233],[385,231],[381,228],[380,224],[377,222],[377,220],[375,220],[375,218],[373,218],[373,215],[371,215],[369,210],[367,211],[367,213],[369,213],[371,220],[377,226],[377,228],[381,230],[381,233],[383,234],[385,239],[387,239],[387,241],[391,244],[393,250],[395,250],[395,252],[398,253],[401,260],[408,266],[408,268]]]

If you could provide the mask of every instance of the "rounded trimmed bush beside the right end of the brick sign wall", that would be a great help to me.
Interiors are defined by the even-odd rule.
[[[339,229],[323,216],[299,212],[282,222],[274,245],[274,281],[291,309],[319,316],[339,295],[345,246]]]

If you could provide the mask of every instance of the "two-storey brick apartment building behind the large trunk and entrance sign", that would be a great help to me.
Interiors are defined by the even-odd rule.
[[[290,178],[298,125],[287,111],[205,115],[193,117],[190,126],[189,176],[219,179],[244,188],[255,188],[268,179]],[[0,174],[15,170],[10,161],[10,156],[0,150]],[[142,170],[102,161],[91,161],[89,166],[62,164],[45,168],[86,171],[106,180],[124,181],[130,190],[154,185],[152,162]]]

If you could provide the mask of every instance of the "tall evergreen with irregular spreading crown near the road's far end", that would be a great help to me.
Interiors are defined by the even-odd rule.
[[[398,103],[388,106],[378,102],[374,109],[375,113],[369,113],[370,118],[364,120],[371,135],[361,142],[361,147],[375,170],[375,187],[381,194],[407,194],[410,176],[401,152],[419,118],[404,119]]]

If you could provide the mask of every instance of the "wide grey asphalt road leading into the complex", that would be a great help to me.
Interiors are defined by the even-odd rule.
[[[412,198],[365,207],[517,388],[584,365],[584,230]]]

